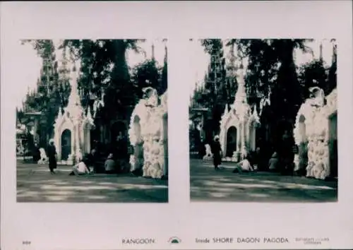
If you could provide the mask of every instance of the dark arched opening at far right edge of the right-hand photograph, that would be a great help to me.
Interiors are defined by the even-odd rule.
[[[330,153],[330,177],[338,175],[338,151],[337,151],[337,113],[329,117],[329,153]]]

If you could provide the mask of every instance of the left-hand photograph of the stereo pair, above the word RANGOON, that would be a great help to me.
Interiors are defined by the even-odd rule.
[[[17,202],[167,203],[167,40],[17,47]]]

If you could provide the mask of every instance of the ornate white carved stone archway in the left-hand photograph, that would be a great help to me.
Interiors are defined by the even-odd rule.
[[[128,136],[134,148],[131,171],[142,168],[143,177],[167,176],[167,92],[158,97],[154,88],[143,89],[143,99],[131,115]]]

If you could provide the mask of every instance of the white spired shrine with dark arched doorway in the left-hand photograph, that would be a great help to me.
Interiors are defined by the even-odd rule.
[[[80,102],[77,88],[78,67],[71,73],[71,93],[68,105],[59,109],[54,124],[54,145],[58,154],[58,161],[72,165],[90,153],[90,131],[94,129],[92,114],[88,107],[87,114]]]

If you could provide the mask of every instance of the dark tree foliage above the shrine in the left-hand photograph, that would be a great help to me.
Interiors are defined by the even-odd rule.
[[[140,97],[140,89],[145,81],[151,81],[153,88],[160,92],[167,89],[167,58],[164,66],[157,69],[151,61],[129,69],[126,53],[133,50],[145,53],[138,44],[144,40],[61,40],[58,48],[52,40],[23,40],[30,43],[41,56],[43,67],[37,81],[37,89],[29,91],[25,101],[27,111],[40,111],[46,117],[42,119],[41,131],[52,136],[53,124],[59,107],[66,107],[71,91],[68,69],[71,63],[80,61],[78,89],[84,107],[104,93],[104,107],[97,119],[109,124],[113,119],[126,119]],[[55,49],[62,49],[63,60],[58,66]],[[166,55],[167,56],[167,55]],[[133,76],[129,71],[134,72]],[[46,138],[47,139],[47,138]]]

